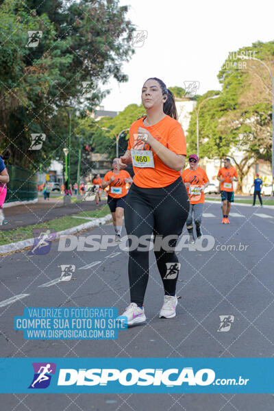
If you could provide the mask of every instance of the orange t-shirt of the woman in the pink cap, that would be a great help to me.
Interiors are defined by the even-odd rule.
[[[210,181],[206,171],[201,167],[197,167],[196,170],[186,169],[182,172],[182,179],[184,183],[190,183],[190,190],[189,186],[186,187],[190,204],[204,203],[205,195],[203,192],[199,192],[199,187]]]

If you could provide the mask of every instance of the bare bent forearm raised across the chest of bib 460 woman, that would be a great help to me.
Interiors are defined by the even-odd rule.
[[[156,140],[147,129],[139,127],[138,134],[142,134],[143,137],[140,140],[147,142],[150,145],[151,149],[155,151],[158,157],[173,170],[181,171],[184,168],[184,163],[186,161],[186,155],[176,154],[167,147],[164,147],[162,143]]]

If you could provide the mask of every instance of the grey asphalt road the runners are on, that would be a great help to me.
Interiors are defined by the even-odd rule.
[[[274,210],[234,204],[229,225],[221,224],[220,204],[206,203],[204,213],[203,234],[212,236],[214,245],[208,251],[178,251],[177,295],[182,298],[175,319],[158,318],[163,291],[151,253],[147,323],[119,332],[117,340],[24,340],[23,332],[13,329],[13,319],[26,307],[116,307],[123,312],[129,303],[127,253],[119,245],[107,251],[58,251],[53,242],[45,256],[23,251],[1,258],[1,357],[273,356]],[[90,234],[113,234],[113,228],[103,225]],[[97,263],[84,268],[92,262]],[[61,264],[75,265],[71,281],[47,284],[60,277]],[[222,315],[234,316],[228,332],[218,332]],[[54,395],[54,402],[47,394],[1,395],[0,401],[5,410],[274,409],[270,394],[71,394]]]

